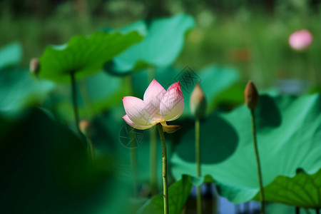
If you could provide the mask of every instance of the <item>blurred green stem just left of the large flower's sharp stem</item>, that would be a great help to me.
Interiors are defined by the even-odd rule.
[[[150,129],[150,167],[151,167],[151,195],[157,194],[157,136],[156,127]]]

